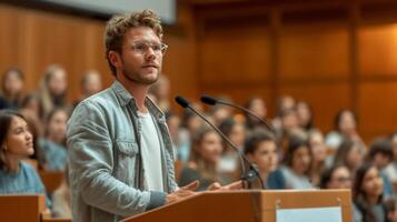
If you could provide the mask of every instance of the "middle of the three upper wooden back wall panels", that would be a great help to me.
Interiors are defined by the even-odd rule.
[[[285,24],[280,33],[280,78],[347,78],[348,30],[337,22]]]

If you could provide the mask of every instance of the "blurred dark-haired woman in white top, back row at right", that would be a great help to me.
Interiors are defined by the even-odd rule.
[[[357,117],[351,110],[340,110],[334,121],[335,131],[326,137],[326,144],[337,149],[347,139],[359,144],[360,150],[365,150],[365,143],[357,132]]]

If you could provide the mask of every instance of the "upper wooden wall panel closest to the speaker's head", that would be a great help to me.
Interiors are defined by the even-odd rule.
[[[265,20],[262,18],[262,20]],[[200,46],[204,84],[257,83],[269,80],[271,51],[268,26],[244,20],[208,21]]]

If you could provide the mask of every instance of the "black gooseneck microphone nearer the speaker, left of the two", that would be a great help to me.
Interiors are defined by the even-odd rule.
[[[240,159],[240,164],[241,164],[241,180],[248,182],[248,186],[251,188],[251,183],[256,180],[256,178],[259,179],[261,189],[265,190],[265,184],[262,179],[260,178],[260,174],[258,170],[252,165],[252,163],[247,159],[247,157],[237,148],[237,145],[231,142],[231,140],[226,137],[219,128],[217,128],[214,123],[211,123],[202,113],[200,113],[198,110],[196,110],[192,105],[190,105],[190,102],[186,100],[185,98],[177,95],[175,98],[175,101],[182,108],[189,109],[192,112],[195,112],[198,117],[201,118],[205,122],[207,122],[237,153]],[[249,170],[247,172],[245,164],[249,165]]]

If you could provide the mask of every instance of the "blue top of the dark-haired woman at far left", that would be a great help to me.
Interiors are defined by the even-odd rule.
[[[0,194],[46,195],[46,189],[36,170],[28,163],[20,162],[18,172],[0,170]],[[47,205],[50,205],[49,200]]]

